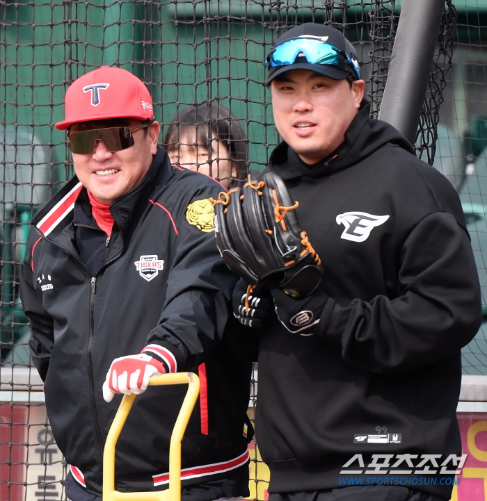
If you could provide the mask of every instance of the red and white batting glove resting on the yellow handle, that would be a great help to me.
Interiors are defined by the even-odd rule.
[[[164,374],[163,363],[146,354],[121,356],[115,359],[103,384],[103,398],[111,402],[115,393],[140,395],[149,385],[149,378],[156,374]]]

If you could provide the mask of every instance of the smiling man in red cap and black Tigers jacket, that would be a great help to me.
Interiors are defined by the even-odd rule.
[[[76,175],[33,218],[20,281],[49,422],[70,465],[67,498],[101,500],[121,393],[141,395],[117,443],[115,488],[168,487],[186,385],[145,390],[151,375],[184,371],[201,389],[182,441],[182,499],[248,495],[251,363],[223,336],[236,279],[214,243],[208,199],[221,186],[170,164],[150,93],[125,69],[74,81],[56,128],[67,131]]]

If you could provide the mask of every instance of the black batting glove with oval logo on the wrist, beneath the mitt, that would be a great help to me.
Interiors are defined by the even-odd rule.
[[[293,334],[312,336],[319,327],[319,320],[329,296],[318,288],[302,299],[294,299],[277,286],[271,286],[270,289],[281,324]]]

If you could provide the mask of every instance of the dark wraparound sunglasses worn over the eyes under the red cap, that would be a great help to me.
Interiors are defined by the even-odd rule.
[[[134,135],[136,131],[145,129],[154,120],[147,124],[142,124],[134,129],[128,127],[106,127],[106,129],[91,129],[90,131],[79,131],[68,133],[70,148],[73,153],[79,155],[92,155],[95,152],[97,140],[102,140],[106,149],[112,153],[134,146]]]

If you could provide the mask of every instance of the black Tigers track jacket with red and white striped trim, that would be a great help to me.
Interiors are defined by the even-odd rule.
[[[113,359],[149,344],[161,347],[168,371],[200,375],[182,442],[183,486],[245,478],[251,363],[223,336],[236,278],[216,249],[207,200],[221,186],[171,166],[159,148],[142,183],[111,204],[120,238],[94,276],[74,246],[73,206],[84,190],[72,179],[35,215],[21,278],[33,362],[74,478],[101,495],[102,451],[122,397],[106,403],[102,384]],[[116,447],[117,490],[167,488],[170,433],[186,388],[154,386],[136,397]],[[248,484],[242,491],[232,482],[220,496],[246,495]]]

